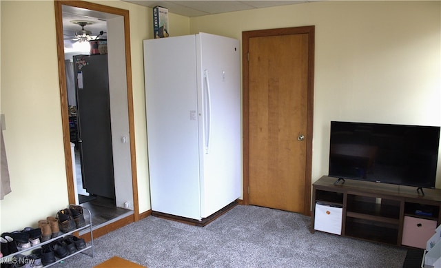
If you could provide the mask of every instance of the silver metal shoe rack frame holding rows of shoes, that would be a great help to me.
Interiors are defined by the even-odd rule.
[[[0,263],[12,263],[12,258],[18,254],[28,255],[28,254],[24,254],[24,253],[32,251],[34,249],[38,249],[39,247],[41,247],[43,245],[50,244],[50,243],[54,242],[55,240],[58,240],[60,238],[63,238],[63,237],[68,236],[70,234],[73,234],[76,231],[81,231],[84,229],[90,229],[90,245],[87,246],[87,243],[86,243],[86,247],[84,249],[80,249],[78,251],[75,251],[74,253],[72,253],[68,256],[65,256],[64,258],[57,258],[57,256],[56,256],[55,262],[52,262],[48,265],[43,265],[43,267],[50,267],[50,266],[55,265],[59,262],[62,262],[65,259],[68,259],[72,256],[75,256],[76,254],[82,253],[83,251],[86,251],[88,249],[92,249],[92,254],[86,254],[85,252],[83,252],[83,253],[86,255],[89,255],[91,258],[93,258],[94,257],[94,235],[93,235],[93,231],[92,231],[92,213],[90,213],[89,209],[86,209],[85,207],[82,207],[82,208],[83,208],[83,211],[86,211],[89,214],[89,223],[87,225],[85,225],[84,227],[78,228],[78,229],[74,229],[73,231],[69,231],[68,233],[61,233],[61,231],[60,231],[61,234],[55,238],[51,238],[50,240],[39,243],[38,245],[34,245],[32,247],[28,247],[27,249],[23,249],[21,251],[15,252],[13,254],[9,254],[8,256],[3,256],[2,258],[0,258]]]

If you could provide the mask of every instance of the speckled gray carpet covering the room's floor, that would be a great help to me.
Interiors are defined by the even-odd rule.
[[[119,256],[154,267],[402,267],[407,250],[309,232],[310,219],[238,205],[205,227],[149,216],[94,240],[54,267],[93,267]],[[89,249],[90,250],[90,249]],[[87,251],[86,251],[87,252]]]

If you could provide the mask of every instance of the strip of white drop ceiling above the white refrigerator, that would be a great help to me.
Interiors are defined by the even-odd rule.
[[[309,1],[129,1],[125,2],[136,3],[137,5],[154,8],[161,6],[167,8],[169,12],[180,14],[185,17],[198,17],[209,14],[219,14],[225,12],[234,12],[240,10],[252,10],[255,8],[269,8],[273,6],[285,6],[295,3],[307,3],[318,0]]]

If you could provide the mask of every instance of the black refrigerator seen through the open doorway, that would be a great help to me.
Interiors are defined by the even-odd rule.
[[[83,188],[115,198],[107,54],[73,57]]]

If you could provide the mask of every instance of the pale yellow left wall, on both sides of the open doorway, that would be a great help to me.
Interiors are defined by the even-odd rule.
[[[147,172],[143,39],[152,38],[152,9],[95,1],[129,10],[139,209],[150,209]],[[0,200],[0,233],[56,214],[68,205],[53,1],[0,1],[1,114],[12,193]],[[189,33],[189,18],[170,14],[173,34]],[[41,32],[45,34],[42,36]]]

